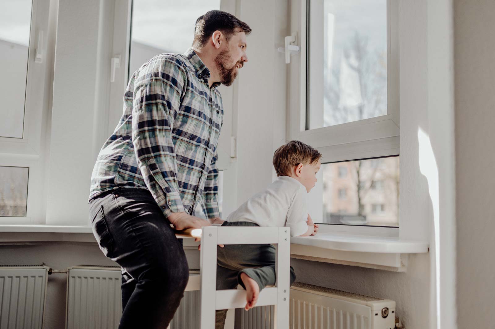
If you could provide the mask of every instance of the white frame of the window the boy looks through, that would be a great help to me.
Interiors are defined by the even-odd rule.
[[[300,52],[296,56],[291,56],[289,64],[289,139],[297,139],[315,147],[323,155],[323,163],[399,155],[398,0],[387,0],[387,114],[306,130],[307,25],[310,1],[313,2],[312,0],[293,1],[290,9],[291,34],[297,35]],[[323,51],[323,44],[320,46]],[[315,51],[314,47],[313,51]],[[397,227],[335,224],[324,224],[320,227],[320,232],[398,237]]]

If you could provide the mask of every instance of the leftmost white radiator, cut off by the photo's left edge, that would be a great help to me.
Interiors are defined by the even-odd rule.
[[[0,266],[0,328],[41,329],[48,281],[47,266]]]

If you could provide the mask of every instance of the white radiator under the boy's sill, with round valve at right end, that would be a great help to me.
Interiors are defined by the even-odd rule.
[[[294,283],[290,329],[394,329],[396,302]],[[272,329],[273,306],[236,310],[236,329]],[[271,322],[271,323],[270,323]]]

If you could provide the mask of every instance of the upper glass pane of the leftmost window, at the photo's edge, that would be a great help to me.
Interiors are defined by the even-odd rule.
[[[0,1],[0,137],[23,137],[31,5]]]

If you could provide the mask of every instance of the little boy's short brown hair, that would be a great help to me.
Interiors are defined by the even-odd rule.
[[[312,164],[321,158],[321,153],[298,140],[282,145],[273,154],[273,166],[277,176],[289,176],[293,166]]]

